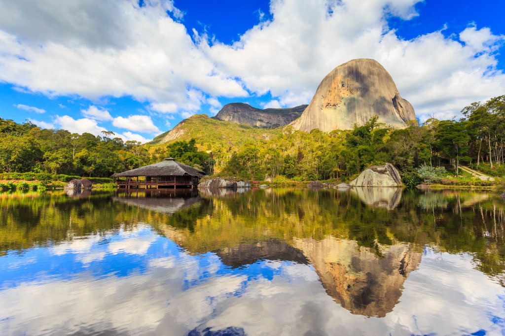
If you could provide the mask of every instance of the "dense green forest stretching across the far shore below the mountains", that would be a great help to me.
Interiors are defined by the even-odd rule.
[[[330,133],[293,131],[287,126],[265,139],[235,145],[226,139],[141,145],[123,142],[112,132],[78,135],[0,119],[0,173],[108,177],[171,156],[207,174],[260,181],[266,175],[346,181],[385,162],[406,178],[426,166],[444,166],[458,175],[462,163],[493,176],[505,175],[505,95],[473,103],[462,113],[459,121],[431,118],[422,125],[411,121],[405,129],[387,127],[375,117],[352,130]]]

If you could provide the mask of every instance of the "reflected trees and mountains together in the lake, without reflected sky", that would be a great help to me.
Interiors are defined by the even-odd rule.
[[[302,189],[194,193],[0,198],[0,254],[144,222],[189,253],[213,252],[231,267],[262,259],[309,262],[335,301],[366,316],[391,311],[427,245],[468,253],[476,269],[505,285],[505,206],[485,193],[404,190],[401,199],[396,192],[388,198]]]

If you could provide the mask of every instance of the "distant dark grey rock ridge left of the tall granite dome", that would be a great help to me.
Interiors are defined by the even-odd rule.
[[[236,124],[276,128],[301,116],[306,107],[307,105],[299,105],[292,108],[260,109],[245,103],[230,103],[224,105],[214,118]]]

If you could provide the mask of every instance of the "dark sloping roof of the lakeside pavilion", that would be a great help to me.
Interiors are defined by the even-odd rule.
[[[205,176],[205,173],[195,169],[189,165],[177,162],[174,158],[169,157],[165,160],[145,165],[143,167],[138,167],[132,169],[131,171],[126,171],[119,173],[116,177],[122,176]]]

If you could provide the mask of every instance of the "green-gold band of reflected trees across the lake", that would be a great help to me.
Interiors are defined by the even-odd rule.
[[[469,252],[476,268],[494,277],[502,278],[505,270],[505,206],[486,194],[405,190],[394,210],[335,190],[258,190],[189,203],[169,214],[157,211],[158,203],[149,209],[149,204],[116,202],[110,194],[92,193],[86,199],[63,192],[2,194],[0,248],[22,250],[128,229],[142,221],[193,253],[271,239],[292,246],[295,239],[320,241],[331,236],[355,241],[379,258],[384,257],[384,246],[410,243],[417,252],[425,245],[449,253]]]

